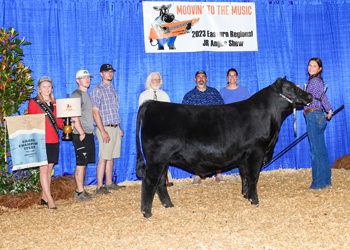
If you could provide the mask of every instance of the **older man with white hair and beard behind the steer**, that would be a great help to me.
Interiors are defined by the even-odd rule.
[[[163,87],[163,79],[159,72],[151,72],[145,83],[145,91],[143,91],[139,97],[139,107],[148,100],[155,100],[161,102],[170,102],[170,98],[167,93],[165,93],[160,88]],[[168,170],[167,174],[167,187],[171,187],[173,184],[173,179],[171,173]]]

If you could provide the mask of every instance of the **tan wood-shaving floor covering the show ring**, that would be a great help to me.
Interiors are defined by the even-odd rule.
[[[0,208],[0,249],[349,249],[350,171],[332,170],[333,186],[311,190],[311,170],[262,172],[260,204],[241,195],[241,182],[201,185],[175,180],[174,208],[157,197],[153,216],[140,211],[141,182],[89,202],[58,200]],[[87,187],[94,191],[96,187]]]

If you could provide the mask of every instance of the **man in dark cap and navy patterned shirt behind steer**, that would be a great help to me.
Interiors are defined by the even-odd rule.
[[[219,91],[215,88],[207,86],[207,74],[205,71],[200,70],[196,73],[194,78],[196,82],[196,87],[189,91],[182,100],[183,104],[193,104],[193,105],[223,105],[224,100],[222,99]],[[221,175],[221,171],[216,172],[216,179],[218,183],[224,183],[224,178]],[[201,184],[202,180],[198,173],[193,180],[193,184]]]

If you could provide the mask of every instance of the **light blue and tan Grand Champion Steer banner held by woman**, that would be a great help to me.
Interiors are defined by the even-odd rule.
[[[6,118],[13,170],[47,165],[45,115]]]

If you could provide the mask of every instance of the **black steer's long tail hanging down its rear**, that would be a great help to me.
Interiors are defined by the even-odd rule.
[[[146,167],[145,161],[143,159],[143,154],[141,152],[141,143],[140,143],[140,137],[139,137],[140,124],[144,120],[146,109],[147,109],[147,105],[145,103],[140,106],[139,112],[137,113],[137,121],[136,121],[136,148],[137,148],[136,174],[138,177],[143,177],[143,172]]]

